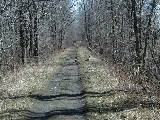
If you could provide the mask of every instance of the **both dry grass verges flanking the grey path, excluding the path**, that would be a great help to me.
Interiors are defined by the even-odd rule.
[[[8,72],[1,80],[0,119],[27,115],[26,112],[15,111],[32,106],[34,101],[28,96],[43,91],[73,50],[75,48],[69,48],[51,55],[38,66],[27,65],[17,72]],[[87,120],[159,120],[157,96],[122,77],[115,66],[102,61],[85,47],[78,48],[77,60],[84,86]]]

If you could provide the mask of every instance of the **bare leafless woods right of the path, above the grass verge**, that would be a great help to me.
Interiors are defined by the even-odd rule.
[[[88,47],[159,88],[158,0],[83,0],[81,15]]]

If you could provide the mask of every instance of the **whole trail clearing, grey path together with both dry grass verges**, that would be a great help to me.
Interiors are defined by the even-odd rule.
[[[29,79],[26,71],[17,75],[30,84],[19,82],[14,96],[13,87],[5,88],[10,96],[3,97],[0,120],[160,120],[159,98],[93,51],[74,47],[58,56],[29,69]]]

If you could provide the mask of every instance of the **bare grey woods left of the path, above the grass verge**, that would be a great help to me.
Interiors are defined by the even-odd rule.
[[[67,27],[73,22],[69,0],[2,0],[0,67],[38,63],[62,48]]]

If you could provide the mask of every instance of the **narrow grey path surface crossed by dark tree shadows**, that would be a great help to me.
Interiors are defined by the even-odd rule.
[[[36,99],[28,120],[85,120],[82,84],[74,51]]]

